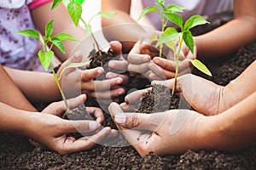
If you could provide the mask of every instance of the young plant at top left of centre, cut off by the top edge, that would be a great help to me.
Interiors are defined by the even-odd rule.
[[[53,10],[54,8],[56,8],[61,2],[62,2],[62,0],[54,0],[51,9]],[[82,21],[82,23],[84,24],[87,36],[91,35],[91,37],[96,42],[97,50],[100,52],[99,43],[96,41],[96,37],[94,36],[94,34],[91,31],[90,21],[93,20],[96,16],[102,16],[105,18],[113,18],[113,16],[115,16],[116,13],[109,14],[109,13],[100,11],[97,14],[93,15],[88,22],[86,22],[81,16],[82,12],[83,12],[83,8],[82,8],[83,3],[84,3],[84,0],[69,0],[69,2],[67,2],[68,14],[70,15],[71,19],[73,20],[73,23],[75,26],[79,26],[79,20]],[[100,53],[100,55],[101,55],[101,53]]]

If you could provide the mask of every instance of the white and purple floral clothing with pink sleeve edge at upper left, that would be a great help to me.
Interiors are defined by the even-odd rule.
[[[8,0],[0,3],[0,64],[29,71],[44,71],[38,59],[42,48],[37,39],[24,37],[17,31],[35,29],[30,8],[49,0]],[[31,5],[31,6],[30,6]],[[30,8],[29,8],[30,7]]]

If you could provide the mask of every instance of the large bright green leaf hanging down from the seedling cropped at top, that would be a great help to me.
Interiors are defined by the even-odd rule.
[[[82,6],[80,3],[68,3],[67,11],[75,26],[79,26],[79,20],[82,14]]]

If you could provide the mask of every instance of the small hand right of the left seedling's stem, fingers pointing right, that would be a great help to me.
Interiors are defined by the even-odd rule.
[[[67,59],[57,72],[60,77],[61,71],[70,63],[79,63],[82,54],[77,52],[70,59]],[[67,98],[72,98],[79,94],[87,94],[90,99],[99,99],[103,103],[109,104],[111,101],[118,102],[118,97],[125,94],[125,89],[120,85],[124,82],[123,77],[114,77],[109,80],[97,81],[96,77],[104,72],[102,67],[89,70],[79,68],[69,68],[61,76],[61,88]]]

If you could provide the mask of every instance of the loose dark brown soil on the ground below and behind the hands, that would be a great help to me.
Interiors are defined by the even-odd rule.
[[[230,15],[216,17],[212,25],[198,27],[195,34],[209,31],[230,20]],[[256,59],[256,42],[247,44],[236,54],[223,60],[203,61],[212,71],[212,77],[194,70],[194,74],[226,85],[236,78]],[[253,77],[252,77],[253,78]],[[105,113],[105,126],[116,128]],[[125,144],[119,147],[119,144]],[[111,146],[108,146],[111,145]],[[33,147],[26,137],[0,133],[0,169],[255,169],[256,144],[235,152],[191,151],[178,156],[156,156],[149,153],[141,158],[122,135],[91,150],[61,156],[42,146]]]

